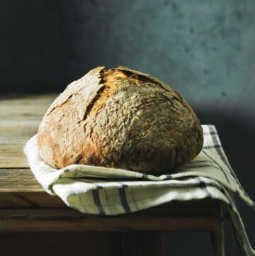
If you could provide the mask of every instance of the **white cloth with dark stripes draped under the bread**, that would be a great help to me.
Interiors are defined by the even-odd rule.
[[[243,255],[255,255],[242,218],[234,203],[237,194],[255,210],[229,165],[215,126],[203,125],[200,154],[174,173],[159,177],[123,169],[69,165],[54,169],[40,159],[36,135],[24,152],[35,178],[49,194],[60,196],[67,206],[82,213],[116,215],[131,213],[172,200],[219,199],[232,217]]]

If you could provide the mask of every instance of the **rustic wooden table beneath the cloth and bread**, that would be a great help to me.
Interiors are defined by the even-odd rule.
[[[47,194],[30,172],[23,146],[37,133],[55,97],[0,96],[2,255],[165,255],[166,230],[208,230],[215,236],[217,201],[173,202],[129,215],[91,216]],[[222,240],[216,241],[216,254]]]

